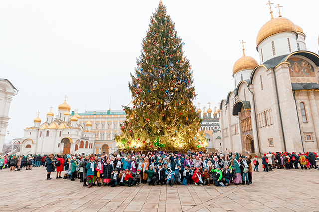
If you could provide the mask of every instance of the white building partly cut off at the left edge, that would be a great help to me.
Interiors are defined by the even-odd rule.
[[[7,79],[0,78],[0,154],[3,152],[3,144],[7,126],[9,125],[9,109],[12,97],[18,90]]]

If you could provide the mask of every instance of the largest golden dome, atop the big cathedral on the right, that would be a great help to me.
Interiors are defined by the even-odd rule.
[[[266,22],[260,28],[256,38],[256,45],[258,46],[267,37],[281,32],[294,32],[297,35],[296,26],[291,20],[285,17],[278,17]]]

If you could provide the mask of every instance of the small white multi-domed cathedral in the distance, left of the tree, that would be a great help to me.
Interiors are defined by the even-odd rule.
[[[41,124],[39,115],[33,120],[34,126],[24,129],[21,139],[14,139],[20,154],[91,154],[94,148],[95,133],[92,123],[80,124],[80,115],[72,112],[71,107],[64,101],[58,106],[58,115],[54,118],[52,111],[46,115]]]

